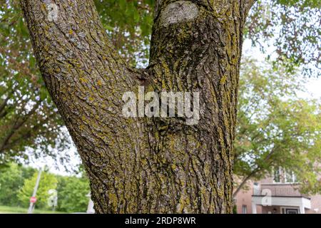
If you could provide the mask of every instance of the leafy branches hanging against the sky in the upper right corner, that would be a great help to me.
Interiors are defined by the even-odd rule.
[[[300,67],[307,76],[320,76],[320,17],[319,0],[258,0],[245,36],[262,51],[275,48],[275,66],[291,73]]]

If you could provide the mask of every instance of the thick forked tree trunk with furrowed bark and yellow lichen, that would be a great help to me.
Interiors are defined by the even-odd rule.
[[[58,18],[47,5],[58,6]],[[93,1],[21,0],[98,213],[232,212],[242,30],[251,0],[156,1],[150,66],[126,65]],[[124,118],[123,93],[200,92],[200,120]]]

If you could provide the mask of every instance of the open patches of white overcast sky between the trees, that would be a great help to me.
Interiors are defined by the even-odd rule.
[[[272,54],[272,48],[268,50],[267,52],[270,51],[270,54]],[[259,48],[253,48],[250,45],[249,40],[245,40],[244,45],[243,45],[243,53],[246,56],[251,56],[252,58],[257,59],[258,61],[264,61],[265,56],[267,53],[262,53]],[[272,54],[273,56],[273,54]],[[320,99],[321,98],[321,78],[303,78],[302,80],[306,81],[305,86],[307,88],[307,93],[299,93],[298,95],[301,98],[315,98],[315,99]],[[76,167],[80,163],[79,156],[76,155],[76,148],[72,147],[71,150],[68,152],[71,156],[71,162],[68,164],[68,166],[71,167]],[[33,167],[44,167],[44,165],[47,165],[49,167],[49,170],[51,172],[54,172],[59,175],[70,175],[68,172],[66,172],[63,169],[63,166],[59,165],[56,167],[54,165],[54,160],[52,158],[46,158],[46,159],[38,159],[34,160],[34,162],[31,163],[31,166]]]

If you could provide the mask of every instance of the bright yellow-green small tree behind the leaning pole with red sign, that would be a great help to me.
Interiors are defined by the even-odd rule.
[[[34,192],[34,186],[36,185],[38,172],[34,172],[34,175],[24,181],[24,186],[18,192],[18,198],[21,205],[28,207],[29,199]],[[39,188],[36,193],[36,207],[48,208],[49,190],[56,190],[58,180],[55,175],[49,172],[42,172],[39,182]]]

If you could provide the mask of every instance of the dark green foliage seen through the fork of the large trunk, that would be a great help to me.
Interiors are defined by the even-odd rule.
[[[133,66],[146,66],[154,1],[96,0],[95,3],[116,49]]]

